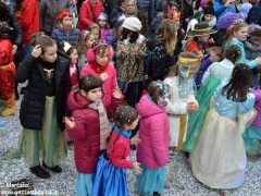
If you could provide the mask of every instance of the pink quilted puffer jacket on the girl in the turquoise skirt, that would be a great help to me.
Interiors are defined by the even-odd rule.
[[[159,169],[169,161],[170,123],[166,111],[152,102],[147,95],[137,106],[140,115],[137,160],[149,169]]]

